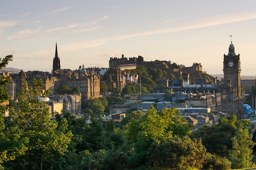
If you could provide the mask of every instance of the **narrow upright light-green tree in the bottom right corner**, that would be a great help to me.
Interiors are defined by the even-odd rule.
[[[232,138],[233,147],[230,153],[234,169],[249,168],[252,161],[252,139],[248,129],[238,129]]]

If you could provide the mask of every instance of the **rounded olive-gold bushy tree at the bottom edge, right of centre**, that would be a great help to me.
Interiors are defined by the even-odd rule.
[[[153,143],[148,150],[147,160],[152,168],[201,169],[206,158],[205,153],[206,149],[200,139],[174,136],[167,143]]]

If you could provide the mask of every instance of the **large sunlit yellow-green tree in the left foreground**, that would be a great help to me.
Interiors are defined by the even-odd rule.
[[[19,128],[20,138],[29,139],[24,143],[27,150],[15,160],[9,161],[6,166],[14,169],[49,169],[55,163],[56,157],[67,151],[72,133],[66,131],[67,123],[57,128],[55,120],[51,120],[49,107],[40,102],[39,97],[46,97],[47,91],[42,93],[42,79],[32,79],[31,87],[24,84],[25,91],[18,95],[18,103],[10,106],[10,119],[6,123],[7,131]],[[65,121],[65,120],[63,120]]]

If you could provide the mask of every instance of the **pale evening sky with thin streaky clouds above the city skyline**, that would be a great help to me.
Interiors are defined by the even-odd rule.
[[[0,0],[0,57],[23,71],[51,72],[57,43],[71,70],[124,54],[222,74],[231,41],[256,75],[255,0]]]

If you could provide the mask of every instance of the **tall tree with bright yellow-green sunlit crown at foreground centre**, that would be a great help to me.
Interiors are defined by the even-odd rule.
[[[144,117],[128,124],[128,142],[134,148],[128,161],[131,166],[136,167],[146,162],[146,153],[154,142],[164,144],[172,139],[173,131],[169,126],[173,124],[172,118],[176,114],[177,109],[166,108],[157,113],[151,106]]]

